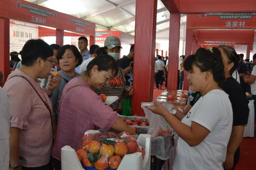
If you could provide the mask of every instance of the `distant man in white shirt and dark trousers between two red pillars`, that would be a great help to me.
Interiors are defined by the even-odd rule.
[[[163,75],[166,75],[165,72],[165,63],[161,60],[161,56],[157,55],[158,60],[156,61],[157,65],[157,74],[156,74],[156,89],[161,89],[163,84]]]

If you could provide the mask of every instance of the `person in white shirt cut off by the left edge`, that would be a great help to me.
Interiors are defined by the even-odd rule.
[[[9,100],[0,87],[0,169],[9,170],[10,161],[10,107]]]

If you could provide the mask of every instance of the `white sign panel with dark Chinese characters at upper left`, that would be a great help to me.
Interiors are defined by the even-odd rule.
[[[21,51],[26,41],[38,39],[38,28],[10,23],[10,52]]]

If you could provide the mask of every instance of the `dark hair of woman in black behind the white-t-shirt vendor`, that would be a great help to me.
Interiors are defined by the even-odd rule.
[[[234,63],[234,66],[230,69],[230,75],[232,75],[237,69],[240,60],[236,50],[227,45],[219,45],[217,48],[222,49],[224,54],[228,57],[228,64]]]

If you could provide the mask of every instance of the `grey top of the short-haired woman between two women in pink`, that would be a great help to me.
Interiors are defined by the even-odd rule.
[[[53,90],[53,96],[50,98],[50,100],[53,103],[53,119],[55,124],[58,123],[59,102],[60,102],[60,98],[61,98],[64,87],[70,80],[80,76],[79,73],[76,73],[76,75],[72,77],[70,75],[65,74],[62,70],[58,71],[58,73],[62,76],[62,79],[59,82],[59,85]]]

